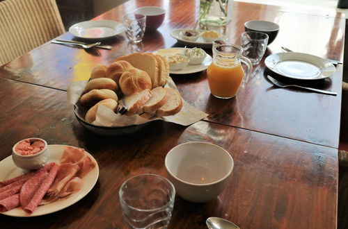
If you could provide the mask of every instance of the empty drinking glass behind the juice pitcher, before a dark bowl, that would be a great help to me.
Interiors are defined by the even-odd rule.
[[[267,49],[268,35],[266,33],[248,31],[242,33],[243,56],[253,65],[260,63]]]

